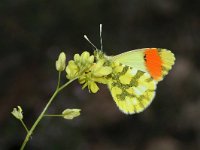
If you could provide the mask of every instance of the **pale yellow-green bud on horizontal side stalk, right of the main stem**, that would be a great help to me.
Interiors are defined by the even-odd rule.
[[[64,119],[73,119],[80,115],[81,109],[65,109],[62,114]]]

